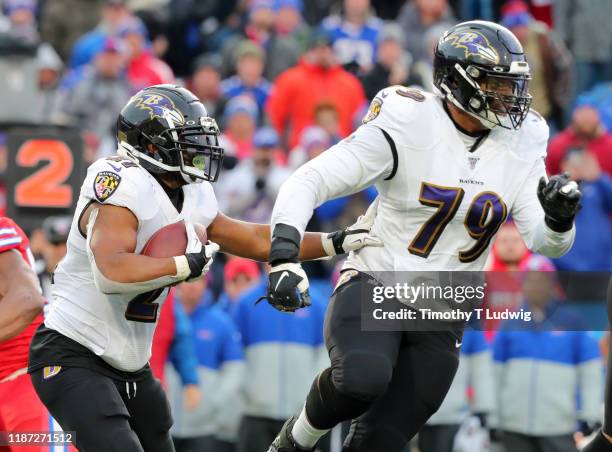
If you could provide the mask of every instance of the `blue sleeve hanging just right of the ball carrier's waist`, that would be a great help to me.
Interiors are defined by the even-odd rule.
[[[170,361],[181,377],[183,386],[198,384],[198,358],[193,346],[191,324],[180,303],[174,303],[174,340]]]

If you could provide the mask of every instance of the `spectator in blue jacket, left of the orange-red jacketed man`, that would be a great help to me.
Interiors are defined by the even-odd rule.
[[[257,43],[245,39],[235,50],[236,75],[221,82],[221,94],[226,100],[246,94],[253,98],[261,119],[272,84],[263,77],[266,54]]]

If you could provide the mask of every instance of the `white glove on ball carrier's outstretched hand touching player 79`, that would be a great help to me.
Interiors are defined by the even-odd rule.
[[[376,200],[364,215],[357,218],[357,221],[348,228],[331,232],[321,236],[321,244],[328,256],[336,256],[355,251],[364,246],[383,246],[383,242],[370,234],[376,213],[378,210],[379,198]]]

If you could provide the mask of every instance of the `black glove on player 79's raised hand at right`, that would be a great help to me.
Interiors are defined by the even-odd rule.
[[[544,221],[555,232],[572,229],[581,197],[578,185],[570,181],[567,173],[552,176],[548,183],[544,177],[540,178],[538,199],[544,209]]]

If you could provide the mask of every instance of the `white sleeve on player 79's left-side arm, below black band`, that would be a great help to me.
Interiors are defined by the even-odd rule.
[[[363,190],[389,176],[393,168],[382,129],[361,126],[351,137],[302,165],[283,184],[272,212],[272,230],[282,223],[303,236],[316,207]]]

